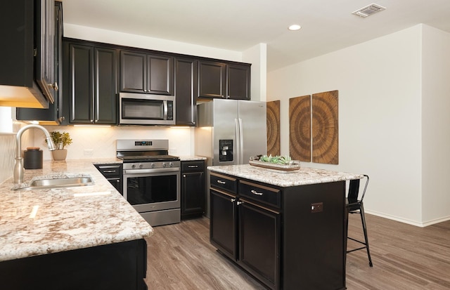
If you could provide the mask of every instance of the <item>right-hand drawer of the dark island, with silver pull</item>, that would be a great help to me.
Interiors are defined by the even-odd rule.
[[[277,188],[240,180],[239,195],[241,197],[248,197],[257,202],[262,202],[263,204],[269,204],[271,206],[276,206],[277,208],[281,207],[281,193]]]

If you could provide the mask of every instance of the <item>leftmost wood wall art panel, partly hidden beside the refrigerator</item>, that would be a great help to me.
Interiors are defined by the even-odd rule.
[[[280,101],[267,102],[267,155],[280,155]]]

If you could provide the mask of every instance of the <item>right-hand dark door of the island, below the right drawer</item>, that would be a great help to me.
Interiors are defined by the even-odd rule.
[[[241,267],[270,289],[280,286],[280,213],[239,201],[239,258]]]

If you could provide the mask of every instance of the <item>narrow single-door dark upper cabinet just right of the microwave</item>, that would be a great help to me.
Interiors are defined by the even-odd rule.
[[[198,61],[175,58],[175,121],[178,126],[195,126],[198,91]]]

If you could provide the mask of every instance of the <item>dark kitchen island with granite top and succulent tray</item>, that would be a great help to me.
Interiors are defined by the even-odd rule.
[[[345,289],[346,180],[361,174],[208,166],[210,241],[269,289]]]

